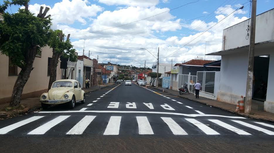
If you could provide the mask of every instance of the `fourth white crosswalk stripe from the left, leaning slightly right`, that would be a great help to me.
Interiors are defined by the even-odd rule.
[[[111,116],[104,135],[119,135],[122,116]]]

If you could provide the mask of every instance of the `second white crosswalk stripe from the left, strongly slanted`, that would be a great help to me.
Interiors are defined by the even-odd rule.
[[[42,126],[39,126],[38,128],[30,131],[28,134],[45,134],[48,130],[50,130],[52,127],[56,126],[58,123],[64,121],[69,116],[70,115],[58,116],[57,118],[54,118],[53,120],[43,124]]]

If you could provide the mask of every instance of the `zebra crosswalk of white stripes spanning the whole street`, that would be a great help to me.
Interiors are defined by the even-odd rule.
[[[125,128],[135,128],[133,134],[154,135],[274,135],[274,126],[263,122],[245,120],[218,120],[197,118],[171,118],[147,116],[90,116],[73,118],[70,115],[61,116],[33,116],[11,125],[1,127],[0,134],[14,134],[13,131],[23,128],[26,135],[43,135],[55,131],[55,127],[62,124],[58,130],[60,134],[81,135],[86,130],[92,131],[93,126],[101,128],[103,135],[120,135]],[[77,121],[78,120],[78,121]],[[127,122],[127,123],[125,123]],[[31,126],[28,126],[31,124]],[[66,124],[66,126],[63,126]],[[133,125],[133,126],[131,126]],[[16,130],[17,129],[17,130]],[[98,129],[97,129],[98,130]],[[129,133],[132,134],[132,133]],[[18,134],[18,133],[16,133]]]

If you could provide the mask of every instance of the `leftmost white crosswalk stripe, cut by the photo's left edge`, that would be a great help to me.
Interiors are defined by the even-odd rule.
[[[38,120],[38,119],[40,119],[40,118],[42,118],[42,117],[44,117],[44,116],[33,116],[33,117],[30,117],[30,118],[25,119],[25,120],[23,120],[23,121],[20,121],[20,122],[11,124],[11,125],[9,125],[9,126],[6,126],[6,127],[4,127],[4,128],[1,128],[1,129],[0,129],[0,134],[6,134],[6,133],[8,133],[8,132],[11,131],[11,130],[14,130],[14,129],[16,129],[16,128],[19,128],[20,126],[23,126],[23,125],[25,125],[25,124],[28,124],[28,123],[33,122],[33,121],[35,121],[35,120]]]

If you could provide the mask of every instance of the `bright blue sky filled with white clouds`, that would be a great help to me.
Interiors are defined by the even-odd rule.
[[[78,55],[84,49],[99,63],[137,67],[156,64],[158,47],[159,63],[221,59],[205,53],[220,51],[222,30],[249,19],[250,12],[249,0],[30,0],[29,10],[37,15],[40,6],[50,8],[52,29],[70,34]],[[272,8],[274,0],[257,1],[257,15]]]

